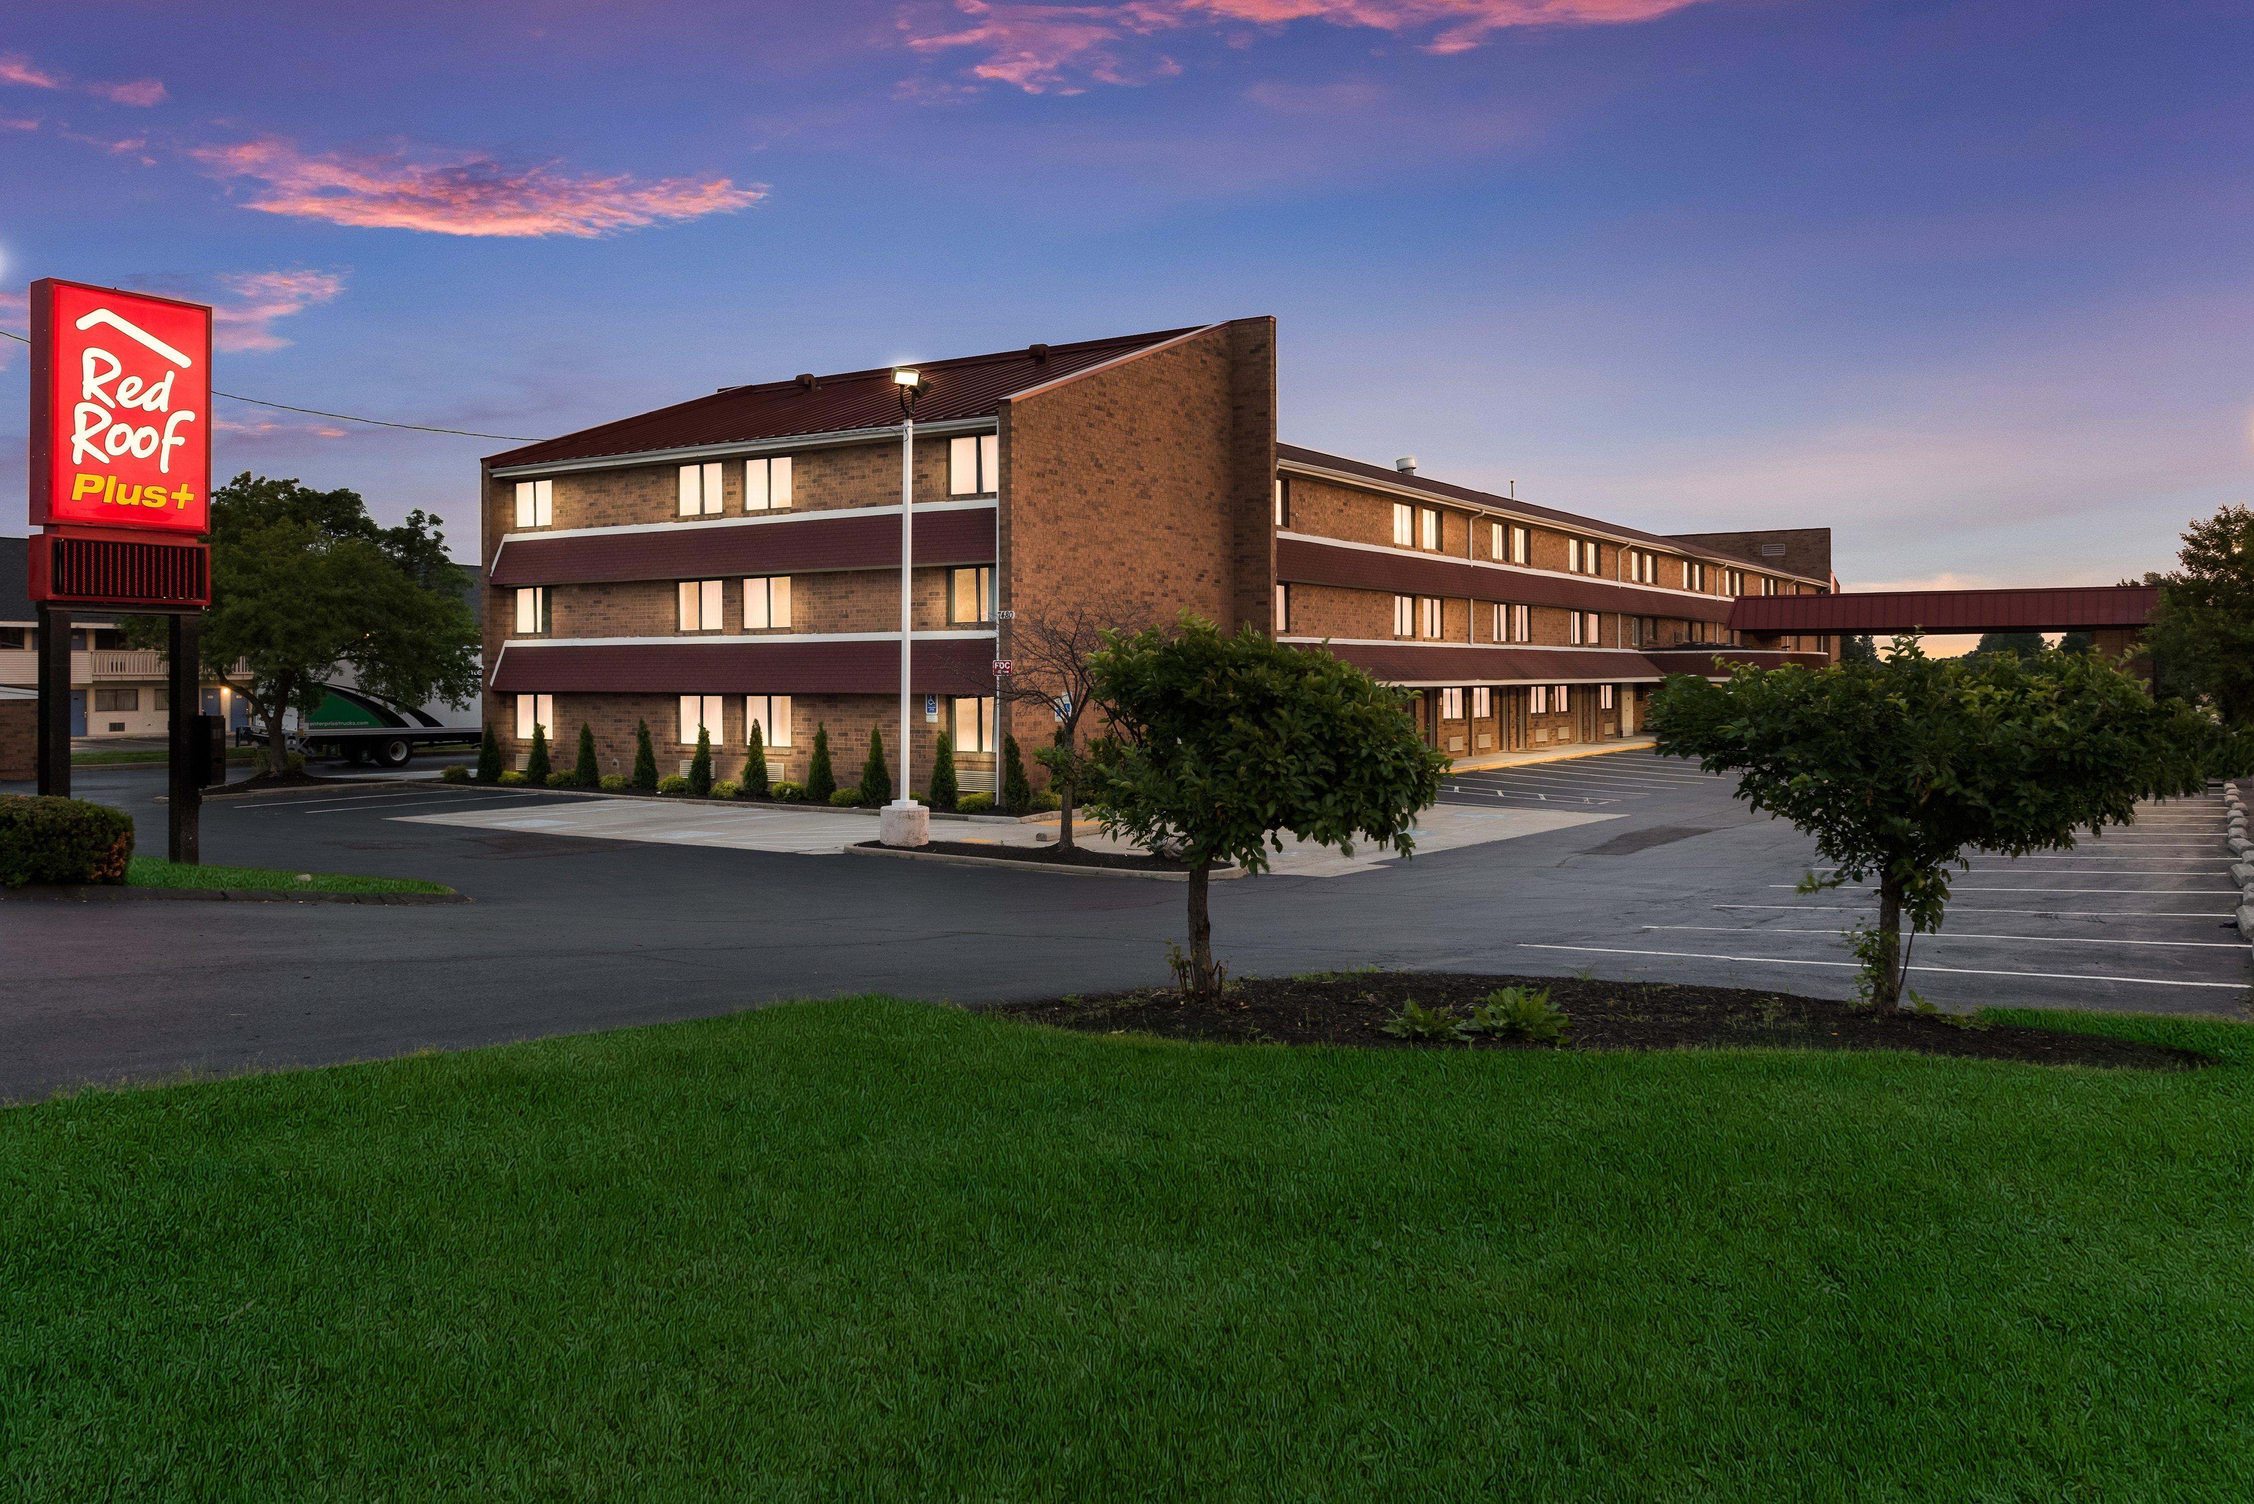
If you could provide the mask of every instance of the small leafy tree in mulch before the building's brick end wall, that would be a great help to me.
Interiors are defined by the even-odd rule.
[[[1109,834],[1190,868],[1190,992],[1219,990],[1206,886],[1235,861],[1267,870],[1278,832],[1352,855],[1368,837],[1411,855],[1418,809],[1449,758],[1425,746],[1409,699],[1330,652],[1235,636],[1183,616],[1091,658],[1109,726],[1089,746],[1089,812]]]

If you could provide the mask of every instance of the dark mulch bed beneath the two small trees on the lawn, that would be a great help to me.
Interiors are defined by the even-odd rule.
[[[1875,1017],[1819,997],[1754,992],[1745,988],[1686,988],[1641,981],[1580,981],[1576,976],[1463,976],[1454,972],[1332,972],[1323,976],[1251,976],[1231,981],[1208,1003],[1181,1001],[1172,990],[1111,997],[1066,997],[996,1008],[1010,1017],[1086,1033],[1147,1033],[1170,1039],[1226,1044],[1359,1044],[1373,1049],[1558,1049],[1521,1039],[1474,1037],[1467,1044],[1395,1039],[1379,1026],[1404,1001],[1427,1008],[1452,1003],[1463,1017],[1494,988],[1546,988],[1551,1003],[1573,1021],[1564,1049],[1661,1051],[1787,1046],[1819,1051],[1916,1051],[1975,1060],[2033,1064],[2137,1067],[2189,1071],[2207,1055],[2076,1035],[2051,1028],[1993,1024],[1965,1028],[1941,1017],[1900,1012]]]

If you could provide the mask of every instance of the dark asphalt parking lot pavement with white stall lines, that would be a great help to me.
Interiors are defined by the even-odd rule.
[[[1731,787],[1645,751],[1461,773],[1449,812],[1596,819],[1494,821],[1530,832],[1215,884],[1215,949],[1237,974],[1587,970],[1848,997],[1839,929],[1871,895],[1799,895],[1812,843]],[[77,791],[133,812],[142,850],[162,850],[162,769],[88,769]],[[421,819],[575,803],[591,800],[394,778],[205,805],[205,861],[428,877],[471,904],[0,902],[0,1100],[787,997],[1104,992],[1165,981],[1183,934],[1179,884]],[[1945,929],[1916,943],[1911,985],[1947,1008],[2243,1017],[2254,967],[2229,929],[2220,828],[2218,800],[2177,800],[2074,852],[1975,859]]]

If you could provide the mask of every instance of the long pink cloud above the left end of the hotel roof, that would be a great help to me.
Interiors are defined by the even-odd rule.
[[[595,237],[730,214],[766,198],[764,187],[737,187],[728,178],[573,178],[545,162],[512,169],[478,156],[417,162],[403,151],[311,153],[273,135],[234,147],[196,147],[189,156],[214,178],[264,183],[248,207],[266,214],[431,235]]]

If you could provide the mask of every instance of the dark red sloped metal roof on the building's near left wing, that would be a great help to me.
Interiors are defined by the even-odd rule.
[[[1109,340],[1082,340],[1077,345],[1030,345],[956,361],[917,361],[915,370],[922,372],[931,388],[915,404],[915,422],[994,417],[1001,410],[1003,397],[1195,331],[1197,327],[1159,329],[1156,334],[1125,334]],[[487,455],[487,465],[500,469],[663,449],[696,449],[701,444],[744,444],[800,433],[888,428],[899,422],[893,370],[890,365],[850,370],[834,377],[816,377],[814,386],[802,386],[796,379],[730,386],[710,397],[692,397],[656,413],[622,417],[595,428],[582,428],[579,433],[566,433],[564,437]]]

